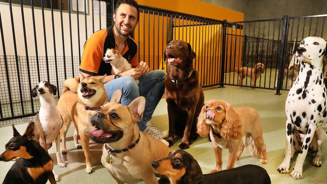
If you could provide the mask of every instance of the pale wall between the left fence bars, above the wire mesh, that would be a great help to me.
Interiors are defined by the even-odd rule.
[[[98,2],[95,2],[98,3]],[[97,6],[98,8],[98,6]],[[14,51],[14,41],[13,41],[13,32],[12,32],[12,23],[10,18],[10,9],[8,4],[0,4],[1,17],[3,22],[4,29],[4,38],[6,46],[7,55],[15,55]],[[34,30],[33,30],[33,20],[32,20],[32,9],[31,7],[24,7],[24,18],[25,18],[25,28],[26,28],[26,40],[28,55],[35,56],[35,44],[34,44]],[[106,11],[105,3],[101,2],[101,26],[102,29],[106,28]],[[98,11],[99,12],[99,11]],[[87,30],[88,37],[93,34],[93,25],[92,25],[92,5],[89,1],[89,15],[87,15]],[[45,44],[44,44],[44,34],[43,34],[43,22],[42,22],[42,11],[40,8],[34,9],[35,15],[35,27],[36,27],[36,37],[37,37],[37,46],[38,46],[38,55],[45,56]],[[25,56],[25,45],[24,45],[24,33],[23,33],[23,23],[22,23],[22,14],[21,7],[13,5],[13,17],[14,17],[14,27],[15,27],[15,36],[17,43],[17,52],[18,55]],[[55,30],[55,43],[56,43],[56,54],[57,56],[63,55],[62,47],[62,33],[61,33],[61,20],[60,20],[60,11],[53,11],[54,17],[54,30]],[[86,41],[85,36],[85,15],[80,13],[79,18],[79,44],[80,44],[80,54],[83,54],[83,45]],[[52,20],[51,20],[51,10],[44,10],[44,20],[45,20],[45,30],[46,30],[46,42],[47,42],[47,51],[48,56],[54,56],[54,45],[53,45],[53,32],[52,32]],[[70,35],[69,35],[69,18],[68,12],[62,13],[63,20],[63,32],[64,32],[64,47],[65,55],[70,56]],[[94,15],[94,26],[95,31],[100,30],[99,23],[99,14]],[[72,47],[73,55],[78,56],[78,38],[77,38],[77,15],[76,12],[71,12],[71,29],[72,29]],[[1,38],[0,38],[1,40]],[[3,53],[3,45],[0,44],[0,55]]]

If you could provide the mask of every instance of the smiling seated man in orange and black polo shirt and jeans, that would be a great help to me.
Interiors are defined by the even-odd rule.
[[[128,106],[139,96],[145,97],[145,110],[141,121],[137,124],[140,131],[149,136],[169,143],[163,138],[168,132],[158,130],[149,120],[165,91],[166,73],[163,70],[149,71],[147,63],[138,62],[138,47],[136,42],[129,36],[133,33],[139,21],[137,2],[133,0],[118,1],[113,14],[114,26],[100,30],[87,40],[84,53],[79,66],[79,71],[84,76],[96,76],[107,74],[104,78],[105,88],[110,101],[113,93],[121,89],[121,104]],[[108,48],[118,50],[121,55],[132,65],[132,69],[111,74],[112,66],[102,60]],[[139,80],[137,85],[136,79]]]

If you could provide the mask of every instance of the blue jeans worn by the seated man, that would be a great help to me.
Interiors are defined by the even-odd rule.
[[[123,106],[128,106],[139,96],[145,97],[145,108],[141,121],[137,122],[140,131],[144,131],[146,123],[150,121],[155,107],[158,105],[163,93],[165,92],[166,72],[163,70],[153,70],[139,78],[137,85],[133,77],[122,76],[108,83],[105,83],[105,89],[110,101],[112,94],[117,90],[122,90],[120,100]]]

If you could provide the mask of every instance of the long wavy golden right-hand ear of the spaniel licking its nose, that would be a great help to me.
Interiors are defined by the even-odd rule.
[[[242,138],[242,123],[234,108],[225,102],[225,121],[221,125],[220,134],[225,139],[241,139]]]

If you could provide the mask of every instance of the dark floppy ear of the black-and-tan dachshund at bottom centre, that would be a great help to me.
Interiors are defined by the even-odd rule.
[[[196,161],[194,158],[191,158],[190,165],[187,167],[184,174],[183,183],[198,183],[202,180],[202,178],[202,170],[198,161]]]

